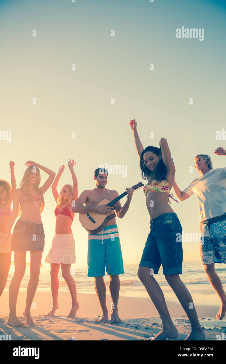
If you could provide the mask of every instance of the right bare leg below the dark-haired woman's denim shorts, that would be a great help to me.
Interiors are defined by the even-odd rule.
[[[185,340],[204,340],[205,333],[198,321],[198,316],[196,313],[194,302],[192,300],[192,296],[184,283],[181,281],[179,274],[165,276],[165,279],[169,283],[173,292],[176,294],[181,306],[188,315],[191,324],[192,331]]]

